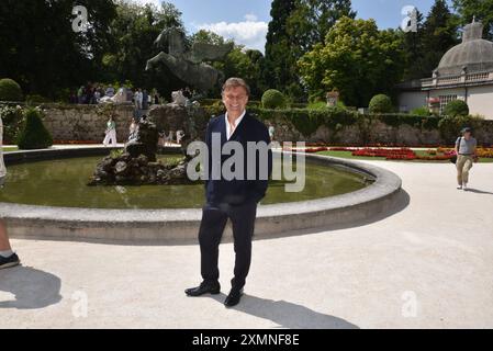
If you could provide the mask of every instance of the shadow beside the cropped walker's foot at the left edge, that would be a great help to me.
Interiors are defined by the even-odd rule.
[[[15,267],[0,271],[0,292],[15,299],[0,299],[0,308],[36,309],[58,303],[61,281],[58,276],[30,267]]]

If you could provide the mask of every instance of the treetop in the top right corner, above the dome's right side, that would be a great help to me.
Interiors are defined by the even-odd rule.
[[[460,15],[460,24],[471,23],[475,18],[484,24],[484,37],[493,41],[493,0],[453,0],[453,8]]]

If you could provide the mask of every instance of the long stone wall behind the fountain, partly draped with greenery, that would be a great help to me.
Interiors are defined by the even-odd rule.
[[[104,137],[107,116],[101,112],[101,106],[96,105],[43,105],[46,117],[44,123],[52,132],[55,140],[87,140],[101,143]],[[199,135],[203,134],[203,124],[206,123],[204,112],[199,109],[194,116],[198,121],[197,129]],[[195,112],[197,113],[197,112]],[[120,143],[128,137],[130,120],[133,115],[132,105],[114,106],[116,135]],[[158,129],[178,129],[180,120],[187,118],[184,107],[172,105],[155,106],[149,111],[149,115],[155,118]],[[200,121],[199,117],[200,116]],[[205,118],[205,120],[204,120]],[[188,117],[190,120],[190,117]],[[204,120],[204,121],[202,121]],[[373,121],[366,131],[357,125],[344,125],[338,131],[330,131],[326,126],[321,126],[312,135],[303,135],[285,118],[266,120],[272,123],[276,128],[276,137],[279,141],[305,140],[309,143],[329,143],[334,145],[449,145],[453,140],[445,140],[438,129],[426,129],[408,124],[391,126],[381,121]],[[189,122],[183,121],[184,128]],[[458,131],[459,133],[459,131]],[[493,144],[493,121],[481,122],[481,128],[475,131],[475,136],[481,145]]]

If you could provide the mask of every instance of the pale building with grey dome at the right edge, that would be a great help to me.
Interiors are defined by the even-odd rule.
[[[463,100],[471,114],[493,120],[493,43],[482,33],[480,22],[466,25],[462,43],[444,55],[432,78],[399,84],[400,110],[427,105],[441,113],[450,101]]]

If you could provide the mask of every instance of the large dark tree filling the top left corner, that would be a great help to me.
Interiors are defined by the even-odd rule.
[[[0,1],[0,77],[11,77],[27,94],[51,98],[98,77],[115,5],[112,0],[77,4],[88,10],[86,33],[72,30],[74,1]]]

